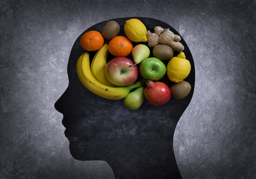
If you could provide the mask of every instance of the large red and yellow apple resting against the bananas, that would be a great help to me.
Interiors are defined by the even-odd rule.
[[[117,86],[132,85],[137,81],[139,70],[134,62],[127,57],[116,57],[105,66],[105,75],[108,81]]]

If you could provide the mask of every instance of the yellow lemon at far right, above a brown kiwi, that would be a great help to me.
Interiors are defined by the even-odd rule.
[[[189,60],[175,56],[171,58],[166,66],[166,74],[168,78],[179,83],[189,76],[191,70],[191,64]]]

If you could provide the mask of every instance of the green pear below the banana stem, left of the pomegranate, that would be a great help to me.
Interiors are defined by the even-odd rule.
[[[131,110],[137,110],[143,103],[144,99],[144,87],[139,87],[130,92],[124,98],[124,105]]]

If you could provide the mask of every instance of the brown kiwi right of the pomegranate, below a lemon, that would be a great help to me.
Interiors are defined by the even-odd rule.
[[[171,95],[176,99],[182,99],[186,97],[191,91],[191,85],[187,81],[181,81],[179,83],[173,83],[170,86]]]

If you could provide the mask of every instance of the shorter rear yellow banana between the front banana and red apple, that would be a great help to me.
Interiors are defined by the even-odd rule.
[[[108,86],[115,86],[110,83],[105,76],[105,66],[107,64],[108,57],[108,44],[104,44],[94,55],[91,64],[92,74],[101,83]]]

